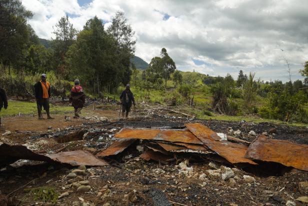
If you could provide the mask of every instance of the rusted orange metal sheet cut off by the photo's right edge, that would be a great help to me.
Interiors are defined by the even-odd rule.
[[[252,141],[246,158],[279,162],[285,166],[308,171],[308,145],[287,140],[270,139],[260,135]]]

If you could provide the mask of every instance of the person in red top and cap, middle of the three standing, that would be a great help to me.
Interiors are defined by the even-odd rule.
[[[71,102],[71,105],[74,107],[74,118],[78,118],[79,112],[81,111],[82,107],[85,103],[85,94],[83,92],[82,86],[79,85],[79,79],[74,80],[74,86],[70,90],[70,97],[69,101]]]

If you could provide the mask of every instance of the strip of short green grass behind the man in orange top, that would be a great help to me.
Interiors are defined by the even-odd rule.
[[[67,113],[72,111],[71,106],[55,106],[50,104],[50,113]],[[8,100],[7,109],[1,109],[1,116],[14,116],[14,115],[36,114],[36,102]]]

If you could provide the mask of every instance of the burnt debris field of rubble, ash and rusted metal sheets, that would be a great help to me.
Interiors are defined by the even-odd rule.
[[[307,128],[149,107],[127,120],[98,115],[47,132],[3,131],[0,205],[308,202]]]

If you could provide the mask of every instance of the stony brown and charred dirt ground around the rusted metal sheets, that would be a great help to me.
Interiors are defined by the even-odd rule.
[[[25,144],[33,151],[54,152],[66,146],[63,151],[81,149],[96,154],[114,142],[113,134],[125,126],[181,128],[186,122],[201,122],[215,132],[239,129],[240,138],[247,141],[254,138],[248,135],[250,130],[260,134],[275,128],[274,134],[268,134],[272,138],[308,143],[305,127],[188,119],[176,113],[148,111],[150,107],[140,105],[137,114],[132,113],[127,120],[118,119],[115,104],[87,106],[80,119],[73,119],[71,113],[66,114],[66,118],[55,114],[51,120],[38,120],[36,116],[5,117],[0,133],[9,130],[11,134],[0,136],[0,141]],[[84,135],[76,135],[78,131]],[[75,167],[19,160],[0,168],[0,202],[1,195],[9,194],[9,205],[304,205],[295,199],[305,196],[299,192],[298,182],[308,181],[306,171],[278,164],[230,165],[213,155],[194,153],[178,153],[168,164],[145,161],[136,149],[141,143],[144,142],[137,141],[122,153],[105,158],[109,162],[107,166],[87,166],[85,175],[73,179],[66,175]],[[179,163],[183,161],[193,168],[192,172],[179,172]],[[212,169],[209,162],[218,167],[231,167],[234,181],[206,175],[206,170]],[[247,182],[243,175],[252,176],[255,181]],[[73,188],[73,183],[80,180],[88,181],[89,191]],[[58,194],[68,192],[68,195],[54,203],[35,199],[29,189],[40,186],[54,188]]]

